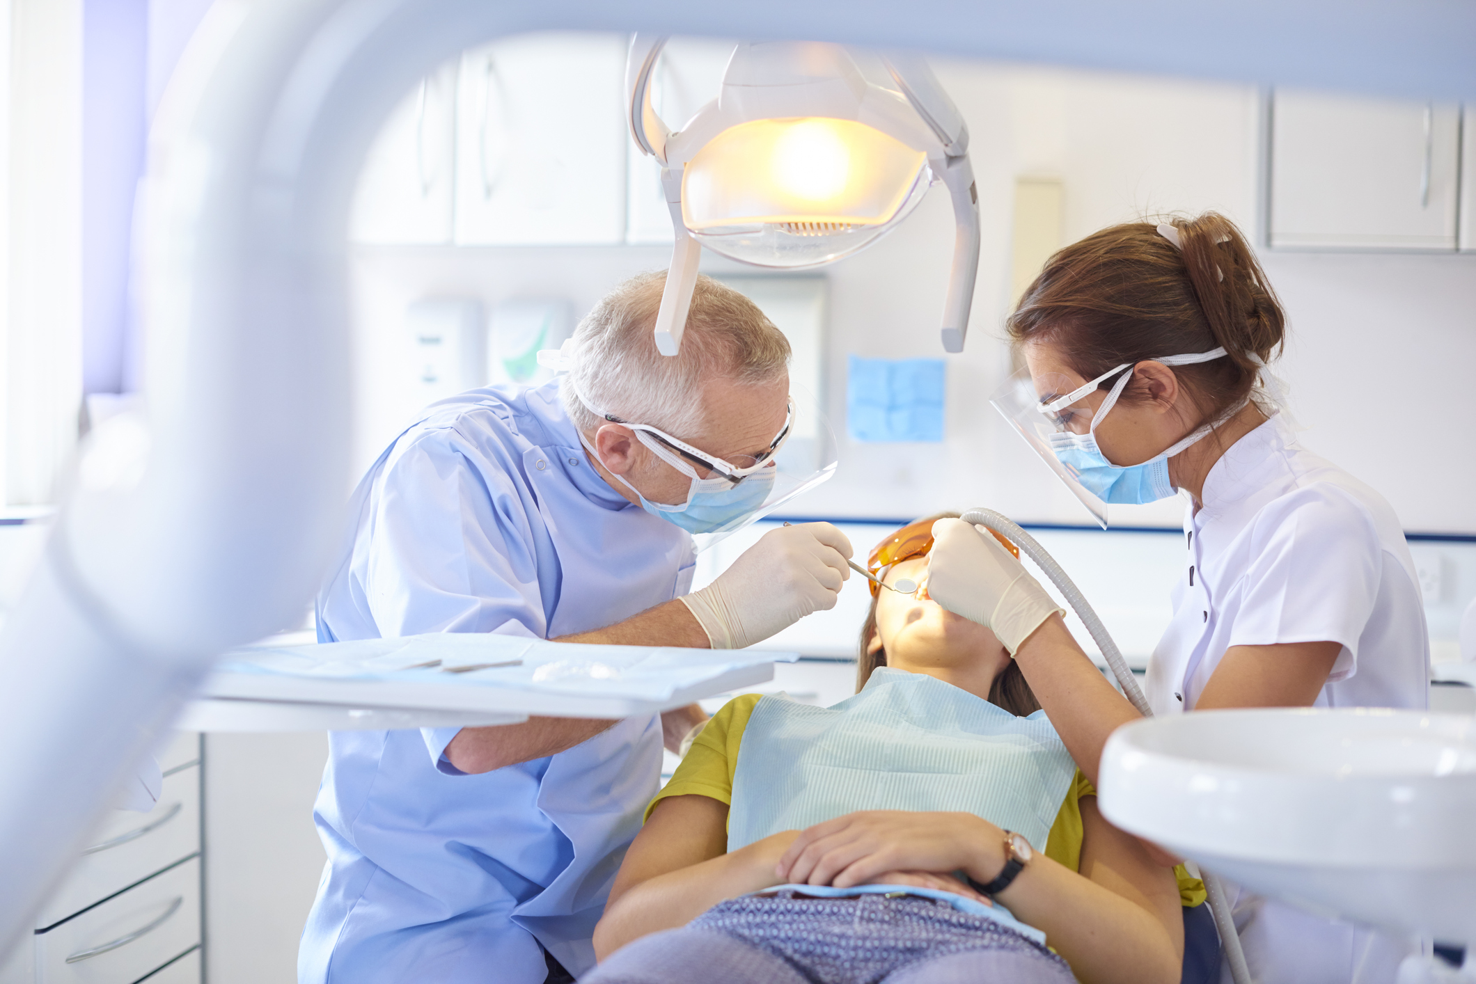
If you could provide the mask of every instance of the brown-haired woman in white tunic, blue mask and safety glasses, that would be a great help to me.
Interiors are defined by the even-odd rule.
[[[1033,384],[1013,419],[1094,512],[1187,499],[1173,618],[1148,664],[1154,714],[1429,705],[1399,519],[1286,422],[1266,375],[1286,319],[1232,223],[1104,229],[1055,254],[1008,325]],[[1107,736],[1137,711],[993,537],[958,519],[934,536],[931,596],[995,630],[1095,782]],[[1234,888],[1232,904],[1259,984],[1387,983],[1414,952]]]

